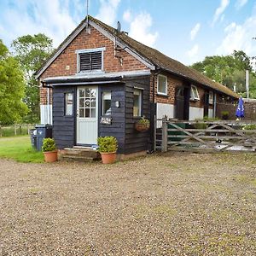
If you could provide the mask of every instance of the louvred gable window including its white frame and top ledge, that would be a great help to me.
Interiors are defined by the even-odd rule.
[[[103,71],[104,50],[105,48],[77,50],[78,73]]]

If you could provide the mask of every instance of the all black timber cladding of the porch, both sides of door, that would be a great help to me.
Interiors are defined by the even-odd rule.
[[[76,88],[77,86],[58,85],[53,89],[53,137],[57,148],[73,147],[76,137]],[[149,131],[134,129],[133,117],[134,90],[143,91],[142,115],[150,118],[149,76],[144,79],[126,80],[119,84],[99,84],[98,87],[98,137],[113,136],[118,139],[119,154],[131,154],[148,149]],[[101,124],[102,92],[111,92],[111,125]],[[73,116],[65,116],[65,93],[73,93]],[[115,102],[119,102],[119,108]],[[109,117],[109,116],[108,116]]]

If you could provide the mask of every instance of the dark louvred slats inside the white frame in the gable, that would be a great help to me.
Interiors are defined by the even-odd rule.
[[[102,51],[79,54],[80,71],[102,70]]]

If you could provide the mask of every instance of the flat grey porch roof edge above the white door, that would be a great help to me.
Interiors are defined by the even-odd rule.
[[[116,84],[125,79],[146,77],[149,70],[123,73],[79,73],[73,76],[53,77],[42,81],[43,84],[55,85],[86,85],[86,84]],[[43,85],[44,86],[44,85]]]

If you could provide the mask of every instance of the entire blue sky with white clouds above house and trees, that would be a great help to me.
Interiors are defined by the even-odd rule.
[[[242,49],[256,55],[253,0],[90,0],[89,14],[191,64]],[[86,15],[86,0],[0,0],[0,38],[44,32],[57,47]]]

